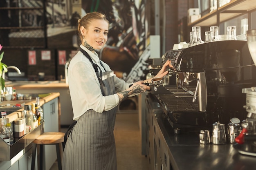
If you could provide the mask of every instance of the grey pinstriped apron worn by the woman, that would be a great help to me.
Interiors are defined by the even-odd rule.
[[[97,72],[104,96],[115,94],[113,71]],[[63,152],[63,170],[117,170],[114,126],[117,107],[86,111],[77,121]]]

